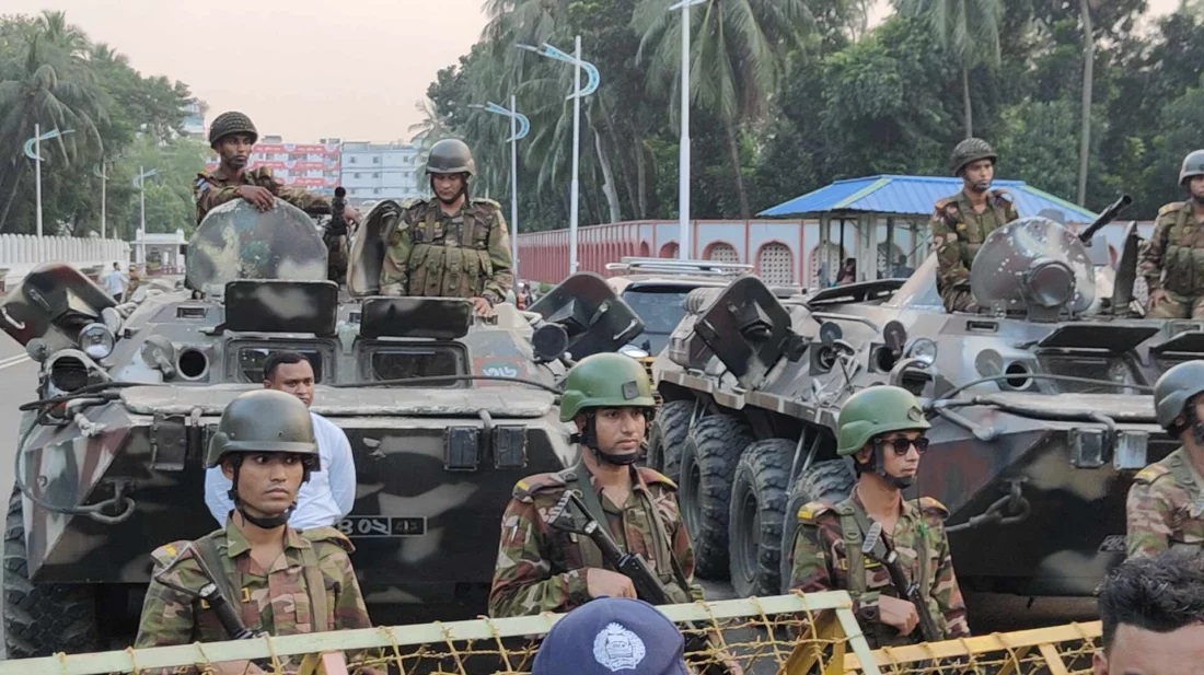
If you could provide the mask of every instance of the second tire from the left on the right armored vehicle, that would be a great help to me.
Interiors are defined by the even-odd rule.
[[[727,502],[736,463],[754,440],[739,418],[710,415],[694,425],[681,446],[678,496],[694,543],[695,573],[703,579],[727,578]]]

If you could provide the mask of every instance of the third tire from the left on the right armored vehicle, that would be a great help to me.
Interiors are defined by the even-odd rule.
[[[738,598],[778,594],[781,523],[796,445],[784,438],[757,440],[736,466],[727,540],[732,590]]]

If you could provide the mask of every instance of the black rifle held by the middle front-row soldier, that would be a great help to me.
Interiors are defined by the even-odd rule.
[[[574,529],[568,526],[559,525],[561,516],[568,509],[568,504],[572,502],[578,513],[585,520],[585,525],[579,529]],[[602,551],[602,557],[610,563],[615,572],[622,574],[627,579],[631,579],[631,585],[636,587],[636,596],[641,600],[654,605],[667,605],[673,604],[673,599],[669,597],[668,591],[665,590],[665,585],[661,580],[656,578],[656,573],[648,564],[639,553],[625,553],[615,544],[610,533],[607,532],[606,527],[598,521],[590,516],[589,509],[582,503],[580,496],[578,496],[574,490],[566,490],[565,496],[556,502],[556,505],[548,511],[548,522],[557,529],[565,529],[568,532],[576,532],[578,534],[584,534],[594,541],[595,545]],[[703,655],[710,651],[710,640],[706,636],[698,634],[697,628],[692,624],[686,624],[690,630],[683,632],[681,636],[685,639],[685,657],[687,661],[694,663],[695,667],[700,668],[700,675],[730,675],[731,670],[727,665],[722,663],[714,662]]]

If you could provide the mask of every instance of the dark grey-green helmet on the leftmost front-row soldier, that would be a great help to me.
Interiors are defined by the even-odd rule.
[[[225,407],[205,467],[217,467],[234,452],[303,455],[312,470],[320,470],[309,409],[300,398],[272,389],[248,391]]]

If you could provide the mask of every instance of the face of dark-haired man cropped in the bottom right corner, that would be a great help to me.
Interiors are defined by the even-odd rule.
[[[1094,665],[1096,675],[1204,675],[1204,626],[1155,633],[1122,623]]]

